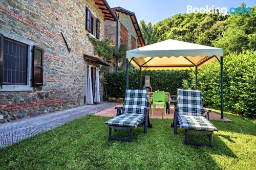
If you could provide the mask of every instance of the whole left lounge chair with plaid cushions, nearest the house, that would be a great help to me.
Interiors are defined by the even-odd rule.
[[[148,115],[148,94],[147,89],[128,89],[125,92],[123,107],[117,109],[116,117],[104,122],[109,125],[109,140],[133,140],[133,128],[144,126],[144,133],[147,133],[147,127],[151,128],[150,117]],[[129,138],[111,136],[112,128],[130,130]]]

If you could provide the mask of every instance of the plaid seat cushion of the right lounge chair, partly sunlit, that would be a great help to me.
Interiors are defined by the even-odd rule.
[[[180,128],[200,131],[218,131],[218,129],[203,116],[178,115],[178,119]]]

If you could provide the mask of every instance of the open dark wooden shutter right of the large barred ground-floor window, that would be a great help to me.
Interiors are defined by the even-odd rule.
[[[33,46],[33,76],[32,85],[42,86],[44,76],[44,50]]]

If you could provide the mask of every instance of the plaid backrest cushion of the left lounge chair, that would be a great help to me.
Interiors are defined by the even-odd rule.
[[[123,114],[144,114],[147,107],[147,89],[128,89],[123,102]]]

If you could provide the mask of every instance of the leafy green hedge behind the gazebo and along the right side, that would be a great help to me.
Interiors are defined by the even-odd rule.
[[[255,119],[256,52],[231,53],[224,56],[223,62],[224,111]],[[187,83],[190,88],[195,85],[195,75],[190,70],[142,71],[142,85],[145,75],[151,76],[154,91],[159,89],[176,94],[176,89],[187,86]],[[200,68],[197,80],[197,87],[203,93],[204,106],[220,109],[220,63],[216,60]],[[139,88],[137,69],[129,71],[129,88]],[[125,70],[112,72],[106,78],[106,91],[108,97],[124,97]]]

